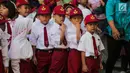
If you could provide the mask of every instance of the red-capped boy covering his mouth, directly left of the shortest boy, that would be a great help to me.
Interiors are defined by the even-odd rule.
[[[81,52],[77,50],[78,43],[82,34],[80,28],[83,20],[82,11],[73,8],[69,14],[70,23],[66,28],[67,46],[70,48],[68,55],[68,73],[81,73]]]

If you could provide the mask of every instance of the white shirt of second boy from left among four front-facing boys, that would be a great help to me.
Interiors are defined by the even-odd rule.
[[[61,33],[61,28],[60,25],[54,22],[52,24],[53,26],[50,29],[50,37],[51,37],[51,45],[55,48],[67,48],[63,44],[60,45],[60,33]]]

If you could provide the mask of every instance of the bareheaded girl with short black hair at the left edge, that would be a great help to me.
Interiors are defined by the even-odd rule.
[[[9,49],[9,45],[10,45],[10,41],[11,41],[11,35],[12,35],[12,24],[14,21],[12,21],[12,19],[15,16],[15,5],[12,1],[6,1],[3,0],[0,3],[0,14],[4,16],[4,18],[6,20],[9,20],[7,22],[5,22],[5,31],[6,33],[8,33],[10,35],[10,37],[7,39],[8,44],[6,44],[6,46],[2,47],[3,50],[3,63],[4,63],[4,70],[5,73],[8,72],[8,68],[9,68],[9,57],[8,57],[8,49]]]

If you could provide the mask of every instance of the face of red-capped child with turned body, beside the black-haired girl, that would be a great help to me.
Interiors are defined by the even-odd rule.
[[[28,5],[21,5],[20,7],[18,7],[18,12],[20,15],[22,16],[28,16],[30,11],[30,7]]]

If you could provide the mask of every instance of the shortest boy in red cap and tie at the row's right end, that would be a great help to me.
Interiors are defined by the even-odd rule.
[[[87,31],[78,45],[78,50],[81,51],[83,73],[98,73],[99,69],[103,69],[100,55],[104,46],[100,37],[95,33],[98,21],[92,14],[86,16],[84,21]]]

